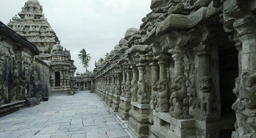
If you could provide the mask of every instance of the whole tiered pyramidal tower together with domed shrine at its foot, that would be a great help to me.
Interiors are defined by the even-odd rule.
[[[19,17],[18,17],[19,15]],[[70,51],[60,45],[56,33],[43,14],[38,0],[28,0],[21,11],[7,24],[39,50],[37,58],[50,66],[51,95],[72,94],[76,66]]]

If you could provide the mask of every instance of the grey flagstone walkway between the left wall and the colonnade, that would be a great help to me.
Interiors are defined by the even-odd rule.
[[[129,138],[90,91],[52,96],[41,105],[0,118],[1,138]]]

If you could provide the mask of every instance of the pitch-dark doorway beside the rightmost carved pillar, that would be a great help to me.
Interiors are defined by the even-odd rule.
[[[238,51],[234,47],[219,47],[220,98],[222,120],[236,120],[232,105],[236,101],[233,93],[235,79],[239,74]],[[230,138],[233,130],[220,131],[220,138]]]

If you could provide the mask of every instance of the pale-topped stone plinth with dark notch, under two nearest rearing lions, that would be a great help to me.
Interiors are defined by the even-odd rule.
[[[170,113],[153,111],[154,125],[151,126],[151,138],[196,138],[196,120],[178,120]]]

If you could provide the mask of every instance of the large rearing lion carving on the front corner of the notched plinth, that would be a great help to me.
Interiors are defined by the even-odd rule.
[[[185,119],[189,117],[189,102],[187,96],[186,77],[178,76],[172,86],[170,98],[170,114],[176,119]]]

